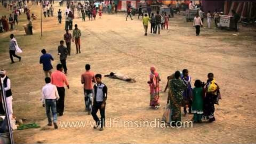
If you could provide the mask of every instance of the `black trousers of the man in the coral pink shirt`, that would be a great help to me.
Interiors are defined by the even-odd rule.
[[[57,87],[57,91],[59,94],[60,99],[56,101],[57,105],[57,113],[63,115],[64,112],[64,103],[65,103],[65,88],[64,87]]]

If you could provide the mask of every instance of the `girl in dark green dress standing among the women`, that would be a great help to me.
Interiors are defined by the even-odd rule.
[[[193,88],[193,102],[192,102],[192,113],[194,113],[194,122],[201,123],[203,115],[203,98],[205,96],[205,90],[203,88],[204,83],[197,79],[195,81],[195,88]]]

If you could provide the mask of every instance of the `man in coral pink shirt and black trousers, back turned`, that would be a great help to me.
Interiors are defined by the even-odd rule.
[[[61,64],[57,65],[57,71],[51,73],[51,84],[56,85],[60,99],[57,101],[57,113],[59,116],[63,115],[64,112],[64,100],[65,100],[65,88],[64,83],[69,89],[68,80],[66,75],[62,72],[63,66]]]

